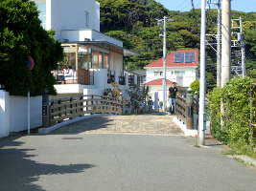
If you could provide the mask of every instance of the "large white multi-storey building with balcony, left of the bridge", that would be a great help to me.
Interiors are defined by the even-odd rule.
[[[100,32],[100,4],[95,0],[34,0],[42,25],[62,42],[65,63],[55,71],[58,94],[102,94],[110,83],[122,84],[123,42]],[[129,53],[129,52],[128,52]],[[62,63],[63,64],[63,63]],[[71,71],[71,72],[70,72]],[[120,83],[121,81],[121,83]],[[125,91],[125,86],[122,87]]]

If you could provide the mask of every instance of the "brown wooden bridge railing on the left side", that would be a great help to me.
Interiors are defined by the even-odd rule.
[[[83,117],[85,114],[123,114],[123,101],[107,96],[43,97],[43,126],[48,127],[63,120]]]

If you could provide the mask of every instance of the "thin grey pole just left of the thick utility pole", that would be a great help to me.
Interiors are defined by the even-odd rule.
[[[221,0],[218,1],[217,87],[221,87]]]

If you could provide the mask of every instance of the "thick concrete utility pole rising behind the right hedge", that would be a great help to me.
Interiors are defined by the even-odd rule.
[[[231,69],[231,0],[222,0],[221,22],[221,88],[230,80]]]

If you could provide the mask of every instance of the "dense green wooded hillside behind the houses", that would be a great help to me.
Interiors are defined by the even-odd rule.
[[[162,56],[161,28],[156,19],[169,16],[168,52],[176,49],[199,48],[200,10],[168,11],[154,0],[99,0],[101,3],[101,29],[107,35],[124,41],[124,46],[138,56],[126,58],[129,70],[143,68]],[[233,11],[232,18],[244,19],[247,69],[256,67],[256,12]],[[217,31],[217,11],[207,13],[208,33]],[[208,48],[207,78],[209,85],[215,83],[216,53]]]

